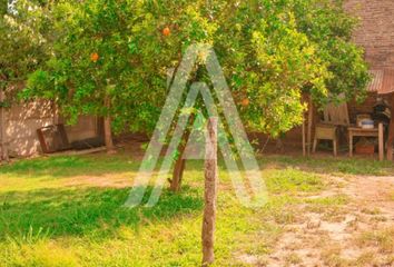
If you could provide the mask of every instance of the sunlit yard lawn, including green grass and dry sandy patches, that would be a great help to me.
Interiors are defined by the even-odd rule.
[[[238,204],[229,174],[219,166],[215,266],[307,264],[303,250],[280,247],[289,233],[304,225],[325,231],[315,237],[324,239],[318,260],[328,266],[394,260],[391,219],[378,208],[355,209],[359,201],[351,191],[357,179],[392,181],[386,177],[393,174],[392,164],[278,156],[259,162],[269,191],[267,205],[259,209]],[[39,158],[0,167],[0,266],[200,265],[203,162],[188,161],[181,192],[166,190],[154,208],[126,209],[121,205],[139,164],[120,152]],[[387,205],[393,204],[390,190]],[[331,224],[352,224],[346,217],[349,210],[368,216],[367,221],[352,220],[365,222],[351,231],[348,240],[358,249],[355,255],[341,254],[341,246],[332,246],[335,238],[329,237]],[[383,226],[380,221],[384,228],[377,229]],[[373,255],[371,246],[376,248]]]

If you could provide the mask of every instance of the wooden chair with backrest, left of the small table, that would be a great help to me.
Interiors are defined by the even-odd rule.
[[[313,144],[313,152],[316,151],[317,142],[319,140],[332,140],[334,156],[337,156],[338,146],[338,128],[348,127],[351,125],[348,119],[347,103],[335,106],[327,105],[323,111],[324,120],[315,127],[315,139]]]

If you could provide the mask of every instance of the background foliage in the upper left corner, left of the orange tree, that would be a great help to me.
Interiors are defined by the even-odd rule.
[[[47,58],[48,40],[41,34],[45,8],[35,1],[18,1],[9,10],[8,0],[0,1],[0,87],[6,90],[8,105],[14,100],[29,73]]]

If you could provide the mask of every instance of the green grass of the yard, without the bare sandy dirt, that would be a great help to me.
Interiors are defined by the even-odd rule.
[[[165,190],[154,208],[125,209],[130,188],[124,185],[139,164],[127,155],[95,155],[0,167],[0,266],[199,266],[203,164],[187,164],[180,194]],[[325,188],[322,172],[375,174],[381,165],[288,157],[260,164],[270,198],[257,210],[239,205],[219,167],[215,266],[247,266],[237,255],[269,253],[283,226],[294,221],[299,196]]]

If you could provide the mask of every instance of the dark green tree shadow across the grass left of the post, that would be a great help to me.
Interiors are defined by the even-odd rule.
[[[149,188],[151,191],[152,188]],[[116,235],[120,226],[135,230],[203,208],[201,192],[185,187],[179,194],[164,191],[152,208],[124,208],[130,189],[42,189],[0,195],[0,240],[37,236],[67,237]],[[145,196],[147,201],[148,194]]]

